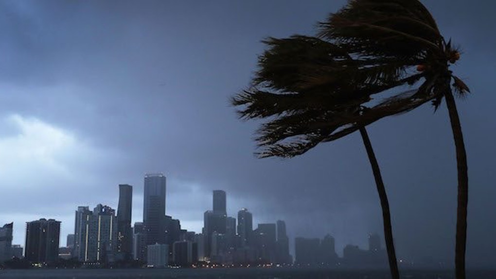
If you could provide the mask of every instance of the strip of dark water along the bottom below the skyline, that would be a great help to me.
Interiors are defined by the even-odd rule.
[[[57,269],[0,270],[0,279],[389,279],[387,271],[301,269]],[[403,271],[402,279],[454,279],[451,271]],[[496,279],[496,271],[471,271],[468,279]]]

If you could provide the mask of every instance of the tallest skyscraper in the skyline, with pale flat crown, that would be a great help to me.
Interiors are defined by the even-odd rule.
[[[162,173],[145,175],[143,223],[147,244],[165,244],[166,177]]]

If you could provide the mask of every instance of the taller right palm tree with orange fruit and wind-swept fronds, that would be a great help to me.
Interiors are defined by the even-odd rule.
[[[455,272],[457,279],[465,279],[467,156],[453,90],[458,96],[470,90],[449,69],[450,64],[460,58],[460,53],[451,40],[446,41],[441,36],[433,16],[418,0],[350,0],[320,27],[321,38],[347,49],[351,56],[364,61],[365,67],[377,67],[378,79],[385,79],[387,83],[404,79],[413,75],[416,67],[422,73],[422,83],[414,96],[423,96],[426,101],[432,98],[435,109],[445,98],[458,171]],[[369,82],[374,84],[378,79],[372,78]],[[365,122],[376,120],[377,115],[371,116],[362,119]],[[363,124],[349,131],[359,129]]]

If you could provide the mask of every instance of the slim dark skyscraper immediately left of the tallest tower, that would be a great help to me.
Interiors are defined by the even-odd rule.
[[[131,231],[132,186],[119,184],[119,207],[117,209],[117,252],[124,259],[132,256]]]

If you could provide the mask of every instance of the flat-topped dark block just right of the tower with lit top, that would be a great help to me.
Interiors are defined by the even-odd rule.
[[[258,224],[254,232],[258,260],[267,263],[275,262],[276,258],[276,224]]]

